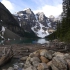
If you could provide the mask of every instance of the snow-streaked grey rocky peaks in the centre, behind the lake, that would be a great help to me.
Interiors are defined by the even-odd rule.
[[[30,8],[13,14],[25,32],[33,31],[38,37],[44,38],[56,30],[56,21],[51,21],[43,12],[34,14]]]

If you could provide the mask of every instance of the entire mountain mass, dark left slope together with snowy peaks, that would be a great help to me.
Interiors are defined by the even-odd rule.
[[[6,39],[9,33],[12,34],[12,37],[9,36],[11,39],[16,35],[26,38],[44,38],[56,30],[56,25],[57,22],[51,20],[51,17],[46,17],[43,12],[34,14],[30,8],[27,8],[11,14],[0,2],[0,36],[4,36],[6,31],[6,36],[4,36]]]

